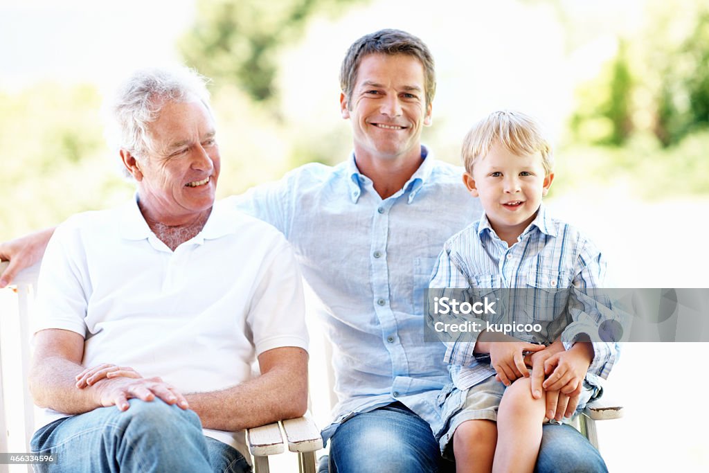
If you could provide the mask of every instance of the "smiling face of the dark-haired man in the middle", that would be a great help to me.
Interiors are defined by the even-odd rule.
[[[423,126],[430,125],[425,75],[411,55],[371,54],[359,63],[348,101],[340,95],[343,118],[352,120],[357,159],[420,158]]]

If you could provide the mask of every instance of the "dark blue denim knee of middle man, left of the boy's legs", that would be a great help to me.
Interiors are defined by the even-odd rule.
[[[436,472],[438,443],[422,418],[401,403],[357,414],[330,439],[330,473]]]

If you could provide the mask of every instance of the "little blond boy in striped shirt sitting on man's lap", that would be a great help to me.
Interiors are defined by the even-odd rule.
[[[617,357],[615,343],[596,342],[602,308],[564,291],[601,286],[605,261],[579,230],[545,210],[542,197],[554,180],[552,150],[532,118],[491,113],[468,133],[462,157],[463,182],[485,215],[445,243],[430,287],[527,288],[530,295],[510,294],[506,310],[542,330],[484,330],[447,343],[455,387],[441,396],[447,423],[440,447],[449,453],[452,438],[458,472],[532,472],[545,416],[562,420],[545,413],[547,392],[581,391],[580,410],[600,393],[598,377],[608,376]],[[550,309],[560,300],[562,308]],[[532,393],[524,356],[555,340],[564,350],[545,363],[545,391]],[[489,355],[489,367],[476,361],[481,354]],[[573,413],[569,406],[565,416]]]

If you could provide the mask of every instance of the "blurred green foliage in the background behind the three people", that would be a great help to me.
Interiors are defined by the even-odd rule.
[[[506,3],[551,9],[563,34],[562,54],[569,57],[608,19],[603,6],[592,17],[569,0]],[[220,146],[228,163],[220,196],[277,179],[304,162],[334,164],[345,157],[351,135],[339,119],[337,74],[346,45],[329,44],[322,30],[354,18],[358,26],[348,32],[349,44],[382,27],[381,18],[371,16],[377,5],[373,0],[196,0],[192,24],[176,48],[187,65],[213,79]],[[391,6],[388,14],[397,12],[398,5]],[[449,23],[456,18],[450,12],[441,18],[431,14],[430,32],[412,32],[447,60],[449,45],[436,43],[436,31],[455,28]],[[644,1],[637,25],[610,30],[613,54],[574,84],[558,133],[554,196],[583,186],[623,187],[644,199],[709,194],[709,2]],[[318,28],[319,35],[311,34]],[[474,58],[488,45],[479,46],[454,60],[479,67]],[[324,62],[327,74],[321,72]],[[450,79],[447,74],[439,69],[439,81]],[[484,98],[506,92],[476,93]],[[439,97],[443,94],[441,87]],[[442,152],[438,157],[457,162],[459,140],[474,118],[463,101],[464,120],[440,113],[445,100],[435,102],[436,126],[425,130],[424,140]],[[132,185],[108,172],[118,163],[106,152],[100,103],[91,83],[44,81],[0,89],[0,184],[6,204],[0,240],[130,196]],[[457,122],[463,128],[450,133]],[[18,207],[31,210],[18,212]]]

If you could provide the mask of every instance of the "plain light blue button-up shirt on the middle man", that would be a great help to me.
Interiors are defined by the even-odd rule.
[[[386,199],[354,155],[230,197],[286,235],[323,303],[338,399],[325,440],[352,414],[395,401],[438,430],[437,396],[450,377],[445,346],[423,340],[423,305],[443,243],[482,214],[462,172],[422,147],[418,170]]]

